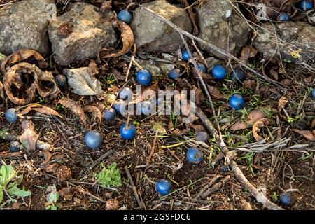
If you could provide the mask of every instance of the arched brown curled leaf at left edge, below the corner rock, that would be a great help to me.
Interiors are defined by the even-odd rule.
[[[1,64],[1,72],[3,75],[10,69],[11,64],[20,63],[22,61],[25,61],[31,57],[34,57],[36,59],[38,66],[43,69],[47,68],[48,64],[45,62],[45,59],[41,54],[39,54],[35,50],[18,50],[17,52],[14,52],[12,55],[6,57],[6,59]],[[32,63],[31,63],[32,64]]]

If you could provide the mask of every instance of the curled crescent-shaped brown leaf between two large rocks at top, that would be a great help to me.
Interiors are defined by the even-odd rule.
[[[130,26],[125,24],[125,22],[120,21],[116,18],[112,22],[112,25],[114,27],[117,27],[121,32],[121,39],[123,41],[123,49],[119,50],[116,53],[112,53],[109,55],[105,55],[103,58],[109,58],[109,57],[119,57],[121,55],[124,55],[126,52],[130,51],[132,48],[132,45],[134,45],[134,33],[132,32],[132,29]]]

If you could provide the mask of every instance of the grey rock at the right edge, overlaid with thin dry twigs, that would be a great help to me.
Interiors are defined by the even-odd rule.
[[[276,35],[275,35],[276,33]],[[258,31],[253,46],[265,59],[281,59],[288,62],[311,62],[315,60],[315,27],[304,22],[285,22],[264,25]],[[294,58],[291,52],[301,50],[301,58]]]

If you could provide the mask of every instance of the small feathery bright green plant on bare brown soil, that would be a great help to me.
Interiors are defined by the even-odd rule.
[[[102,162],[101,167],[102,171],[98,174],[94,174],[97,178],[97,183],[99,183],[100,186],[115,188],[122,185],[120,172],[116,162],[113,162],[108,168],[106,168]]]

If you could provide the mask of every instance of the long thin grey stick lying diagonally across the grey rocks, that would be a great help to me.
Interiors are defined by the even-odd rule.
[[[167,25],[169,25],[170,27],[172,27],[173,29],[178,31],[179,34],[183,34],[185,36],[188,36],[190,38],[195,39],[196,41],[199,41],[200,43],[202,43],[204,45],[207,45],[209,48],[211,48],[213,50],[216,50],[217,52],[221,53],[222,55],[225,55],[225,57],[229,57],[229,58],[235,60],[236,62],[238,62],[239,64],[244,66],[246,69],[248,69],[249,71],[255,73],[257,76],[260,76],[260,77],[264,78],[265,80],[269,81],[270,83],[274,83],[274,85],[277,85],[278,87],[281,87],[283,89],[283,87],[282,87],[283,85],[281,85],[281,83],[277,83],[274,80],[272,80],[271,78],[268,78],[266,76],[262,76],[262,74],[260,74],[258,71],[255,71],[255,69],[252,69],[245,62],[241,61],[241,59],[238,59],[237,57],[235,57],[231,53],[227,52],[226,50],[218,48],[216,45],[213,45],[212,43],[208,43],[207,41],[202,40],[202,38],[194,36],[194,35],[188,33],[188,31],[185,31],[185,30],[177,27],[176,25],[174,25],[174,23],[172,23],[169,20],[165,19],[162,15],[159,15],[159,14],[153,12],[153,10],[151,10],[151,9],[146,8],[146,7],[142,6],[142,5],[140,5],[140,7],[142,9],[144,9],[146,12],[150,13],[151,15],[153,15],[155,18],[158,18],[158,19],[162,20],[162,22],[165,22]]]

